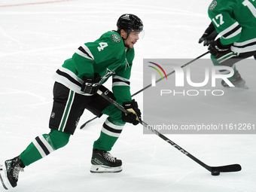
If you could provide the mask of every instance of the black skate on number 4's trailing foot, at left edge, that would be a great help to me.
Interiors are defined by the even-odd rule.
[[[0,165],[0,180],[6,190],[17,186],[19,172],[23,172],[24,167],[20,156],[12,160],[5,160],[4,165]]]

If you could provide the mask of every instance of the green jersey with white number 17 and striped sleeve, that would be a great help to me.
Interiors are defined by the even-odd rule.
[[[214,0],[208,14],[222,44],[235,53],[256,50],[256,1]]]

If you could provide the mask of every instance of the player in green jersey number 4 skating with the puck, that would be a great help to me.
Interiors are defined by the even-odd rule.
[[[53,87],[53,109],[50,133],[37,136],[17,157],[0,165],[0,178],[5,189],[17,186],[19,172],[42,157],[64,147],[84,109],[100,117],[107,114],[102,130],[93,144],[90,172],[120,172],[122,161],[111,156],[126,122],[139,123],[141,112],[131,98],[130,75],[134,44],[143,31],[142,20],[133,14],[123,14],[117,20],[117,31],[104,33],[99,39],[78,47],[72,58],[66,59],[56,71]],[[112,76],[112,91],[102,84]],[[124,114],[97,94],[101,90],[130,114]]]

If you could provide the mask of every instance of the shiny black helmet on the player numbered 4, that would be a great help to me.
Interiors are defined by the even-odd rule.
[[[117,20],[117,32],[120,33],[121,29],[127,32],[128,35],[132,31],[142,32],[142,20],[134,14],[123,14]]]

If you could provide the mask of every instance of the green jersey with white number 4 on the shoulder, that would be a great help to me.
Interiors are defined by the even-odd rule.
[[[117,32],[105,32],[99,39],[78,47],[72,58],[66,59],[56,71],[54,80],[82,95],[83,77],[99,73],[104,84],[112,76],[112,90],[118,103],[131,101],[130,75],[134,49],[126,49]]]

